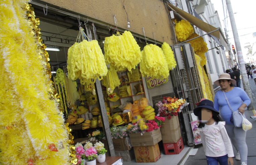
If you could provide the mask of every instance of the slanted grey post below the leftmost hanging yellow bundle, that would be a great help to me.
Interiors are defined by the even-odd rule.
[[[112,142],[110,127],[108,123],[108,116],[107,116],[104,97],[102,93],[101,82],[98,79],[96,79],[96,88],[97,88],[98,100],[101,107],[102,126],[103,126],[104,133],[106,134],[106,137],[107,137],[109,153],[110,153],[110,156],[115,156],[115,150],[114,150],[114,145]]]

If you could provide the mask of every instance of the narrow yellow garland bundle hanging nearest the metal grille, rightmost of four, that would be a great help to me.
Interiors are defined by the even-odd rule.
[[[175,61],[172,48],[166,42],[163,42],[161,48],[162,48],[163,54],[166,58],[166,62],[167,62],[169,70],[173,70],[176,67],[177,63]]]

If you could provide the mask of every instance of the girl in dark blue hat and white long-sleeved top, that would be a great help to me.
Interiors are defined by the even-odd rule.
[[[225,129],[225,122],[221,121],[219,112],[214,109],[210,100],[203,100],[193,110],[198,116],[198,130],[202,139],[206,161],[208,165],[233,165],[233,149]]]

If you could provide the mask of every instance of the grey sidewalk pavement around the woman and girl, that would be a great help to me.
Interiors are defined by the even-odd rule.
[[[253,97],[253,105],[256,107],[256,85],[254,83],[254,80],[252,78],[249,78],[249,85],[252,90],[252,97]],[[255,165],[256,164],[256,121],[251,119],[250,116],[253,115],[251,110],[245,111],[245,115],[247,119],[252,123],[252,129],[247,131],[246,135],[246,143],[248,146],[248,160],[247,160],[247,165]],[[205,165],[207,164],[206,162],[206,157],[205,157],[205,152],[203,149],[203,145],[197,145],[194,148],[198,148],[198,151],[195,156],[189,156],[186,163],[184,165]],[[234,150],[234,155],[236,155],[236,151],[233,147]],[[235,160],[233,158],[234,165],[240,165],[240,161]]]

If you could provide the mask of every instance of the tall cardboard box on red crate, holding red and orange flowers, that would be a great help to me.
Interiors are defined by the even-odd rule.
[[[165,117],[164,124],[161,127],[163,143],[176,143],[180,137],[180,123],[178,116],[172,116],[169,120]]]

